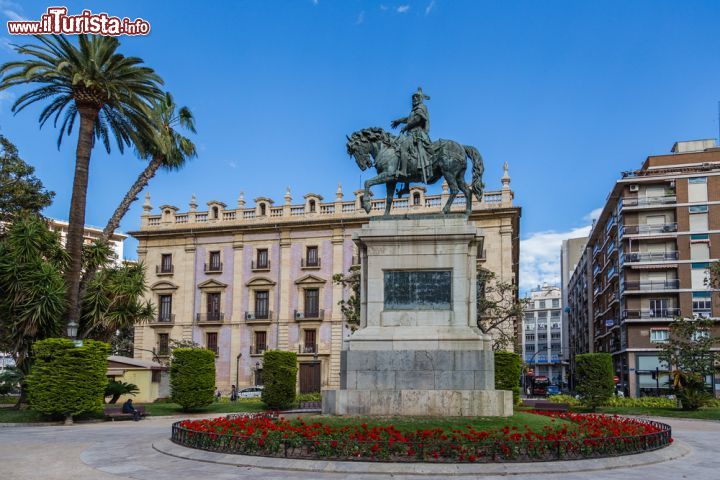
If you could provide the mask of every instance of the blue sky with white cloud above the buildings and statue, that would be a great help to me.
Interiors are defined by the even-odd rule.
[[[431,136],[476,146],[488,189],[509,163],[528,288],[558,281],[559,242],[587,231],[620,171],[718,135],[717,1],[208,3],[64,3],[148,20],[151,35],[123,38],[122,51],[197,118],[199,157],[152,180],[156,207],[184,210],[193,193],[201,204],[235,205],[240,191],[281,201],[288,185],[295,199],[332,198],[338,182],[349,195],[361,175],[345,134],[388,128],[422,85]],[[51,4],[0,0],[0,17],[37,19]],[[2,35],[0,61],[22,40]],[[75,138],[58,150],[39,109],[13,116],[19,93],[0,94],[0,131],[57,192],[46,213],[67,218]],[[94,151],[89,224],[105,224],[141,169],[132,154]],[[138,227],[140,203],[122,230]]]

